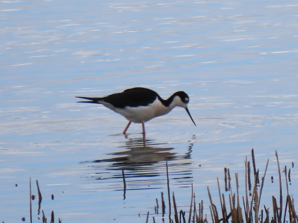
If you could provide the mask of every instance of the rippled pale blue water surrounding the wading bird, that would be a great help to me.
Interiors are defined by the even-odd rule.
[[[154,206],[162,191],[167,200],[165,161],[178,206],[188,210],[193,183],[208,213],[207,186],[216,200],[224,167],[243,179],[252,148],[260,172],[269,158],[262,202],[278,197],[275,150],[282,169],[291,168],[289,191],[297,197],[297,7],[2,1],[0,221],[29,221],[31,177],[48,219],[53,210],[63,222],[145,222],[149,211],[151,222],[161,222]],[[123,117],[76,103],[75,96],[135,86],[163,98],[187,92],[197,127],[176,108],[146,123],[144,151],[141,125],[125,138]]]

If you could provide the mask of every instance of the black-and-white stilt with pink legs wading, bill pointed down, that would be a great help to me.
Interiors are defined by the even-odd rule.
[[[123,134],[126,134],[129,125],[134,122],[142,123],[143,135],[145,135],[145,122],[169,113],[176,106],[184,108],[193,121],[187,108],[189,97],[183,91],[174,93],[167,100],[162,99],[155,91],[143,87],[126,89],[121,93],[115,93],[102,98],[76,98],[89,100],[78,102],[103,104],[103,106],[124,116],[129,123],[123,131]],[[194,121],[193,124],[195,124]]]

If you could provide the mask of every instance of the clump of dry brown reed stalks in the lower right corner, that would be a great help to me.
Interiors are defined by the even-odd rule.
[[[169,222],[197,222],[197,223],[203,223],[203,222],[247,222],[247,223],[258,223],[258,222],[278,222],[278,223],[297,223],[298,217],[295,212],[294,208],[294,198],[289,195],[288,191],[288,178],[290,177],[290,172],[287,176],[286,167],[283,169],[283,173],[285,174],[285,181],[286,181],[286,189],[287,194],[285,198],[285,207],[283,208],[283,194],[282,194],[282,178],[281,178],[281,170],[280,165],[278,161],[278,155],[277,152],[275,152],[276,158],[277,158],[277,166],[278,166],[278,173],[279,173],[279,185],[280,185],[280,196],[279,196],[279,203],[277,202],[277,199],[272,196],[272,206],[273,206],[273,213],[269,214],[268,209],[264,205],[264,207],[260,207],[260,200],[262,196],[263,186],[264,186],[264,180],[267,172],[268,167],[268,161],[266,164],[265,172],[263,177],[259,178],[259,170],[256,168],[255,165],[255,159],[254,159],[254,150],[252,149],[252,165],[253,165],[253,174],[254,174],[254,180],[253,185],[251,183],[251,168],[250,168],[250,162],[245,161],[245,195],[240,197],[239,195],[239,184],[238,184],[238,173],[235,174],[236,179],[236,194],[232,193],[232,189],[230,186],[230,175],[229,175],[229,169],[225,169],[225,183],[226,183],[226,190],[230,189],[229,197],[226,198],[224,194],[221,194],[221,189],[219,186],[219,180],[217,178],[218,182],[218,192],[219,192],[219,200],[220,205],[218,207],[213,203],[212,197],[209,191],[209,187],[207,187],[209,200],[210,200],[210,213],[211,213],[211,219],[209,221],[207,220],[207,215],[203,215],[203,200],[197,205],[195,201],[195,196],[193,193],[193,186],[192,186],[192,192],[191,192],[191,201],[190,201],[190,210],[187,212],[189,216],[186,216],[185,211],[177,211],[177,205],[176,200],[174,196],[174,192],[172,195],[173,199],[173,207],[174,207],[174,217],[171,218],[171,201],[170,201],[170,189],[169,189],[169,178],[168,178],[168,169],[167,169],[167,182],[168,182],[168,197],[169,197]],[[168,167],[167,167],[168,168]],[[157,201],[156,201],[157,202]],[[158,206],[158,204],[157,204]],[[167,222],[164,218],[165,214],[165,205],[164,205],[164,198],[162,193],[162,213],[163,213],[163,222]],[[147,220],[148,222],[149,218],[149,212],[147,213]],[[155,223],[155,219],[153,217],[153,222]]]

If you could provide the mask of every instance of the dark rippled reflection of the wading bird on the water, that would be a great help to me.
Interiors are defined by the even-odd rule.
[[[195,136],[194,138],[195,139]],[[183,144],[180,144],[183,145]],[[95,173],[89,177],[101,182],[95,188],[102,190],[158,189],[167,184],[166,161],[170,161],[170,180],[181,187],[189,187],[193,182],[191,159],[193,142],[185,146],[186,153],[175,153],[167,143],[143,138],[126,138],[121,150],[107,153],[109,158],[86,161]],[[121,183],[120,183],[121,182]]]

